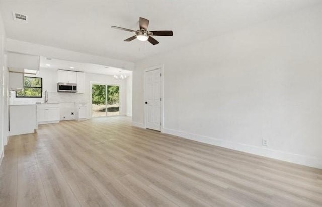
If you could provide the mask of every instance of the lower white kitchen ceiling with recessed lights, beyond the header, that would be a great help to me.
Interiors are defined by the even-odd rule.
[[[72,68],[71,68],[72,67]],[[52,59],[47,57],[40,57],[40,70],[58,70],[64,69],[69,71],[83,71],[86,73],[118,75],[120,72],[123,75],[131,76],[132,71],[110,67],[105,65],[72,62],[67,60]]]

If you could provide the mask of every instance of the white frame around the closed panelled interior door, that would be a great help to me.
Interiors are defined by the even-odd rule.
[[[160,123],[161,123],[161,126],[160,126],[160,132],[163,133],[164,131],[164,123],[163,123],[163,120],[164,120],[164,87],[163,87],[163,77],[164,77],[164,65],[156,65],[156,66],[153,66],[153,67],[149,67],[149,68],[146,68],[144,69],[144,72],[143,72],[143,120],[144,120],[144,128],[146,129],[146,120],[145,120],[145,115],[146,115],[146,107],[145,107],[145,100],[146,100],[146,97],[147,97],[147,90],[145,88],[145,83],[146,83],[146,72],[148,71],[153,71],[153,70],[157,70],[157,69],[160,69],[160,73],[161,73],[161,77],[160,77],[160,82],[161,82],[161,86],[160,86],[160,96],[161,96],[161,103],[160,103]]]

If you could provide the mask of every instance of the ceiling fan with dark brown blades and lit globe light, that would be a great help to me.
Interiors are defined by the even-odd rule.
[[[134,39],[138,39],[140,41],[149,41],[152,45],[156,45],[159,42],[154,39],[151,36],[173,36],[173,32],[171,30],[161,30],[161,31],[147,31],[147,27],[149,26],[149,20],[140,17],[139,20],[139,25],[140,25],[140,29],[139,30],[131,30],[131,29],[126,29],[123,27],[117,27],[117,26],[112,26],[112,28],[114,29],[120,29],[120,30],[124,30],[124,31],[128,31],[128,32],[134,32],[135,35],[127,38],[126,42],[132,41]]]

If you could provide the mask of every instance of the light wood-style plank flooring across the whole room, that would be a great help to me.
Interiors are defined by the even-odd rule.
[[[11,137],[0,206],[322,206],[322,170],[131,126],[40,125]]]

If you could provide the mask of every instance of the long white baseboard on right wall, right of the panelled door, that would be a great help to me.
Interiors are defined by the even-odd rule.
[[[216,145],[216,146],[220,146],[220,147],[224,147],[232,150],[242,151],[242,152],[260,155],[268,158],[273,158],[277,160],[282,160],[286,162],[291,162],[295,164],[322,169],[322,159],[317,157],[293,154],[293,153],[269,149],[266,147],[258,147],[258,146],[246,145],[241,143],[235,143],[235,142],[225,141],[221,139],[215,139],[209,136],[202,136],[198,134],[178,131],[178,130],[169,129],[169,128],[164,128],[163,132],[166,134],[171,134],[185,139],[207,143],[210,145]]]

